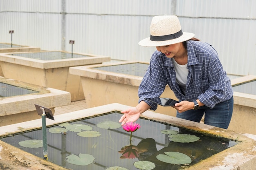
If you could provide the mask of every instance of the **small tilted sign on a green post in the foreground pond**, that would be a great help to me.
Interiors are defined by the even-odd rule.
[[[48,151],[47,151],[47,135],[46,135],[46,121],[45,117],[48,119],[54,120],[54,117],[52,115],[52,110],[49,108],[45,108],[43,106],[39,106],[35,104],[36,111],[38,115],[42,116],[42,131],[43,131],[43,159],[48,160]]]

